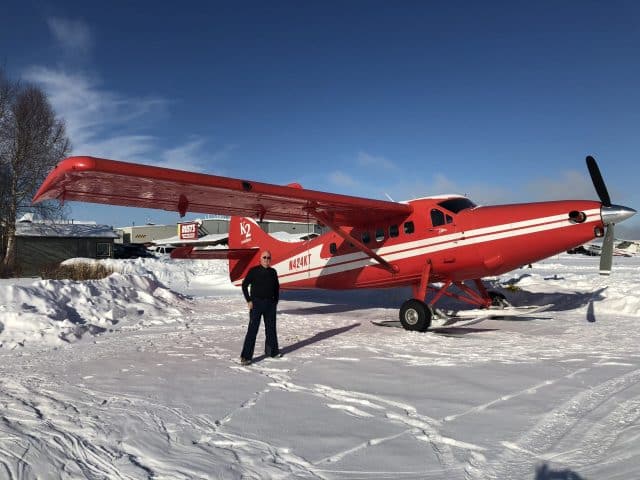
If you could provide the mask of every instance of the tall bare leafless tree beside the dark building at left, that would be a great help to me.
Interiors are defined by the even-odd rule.
[[[37,213],[60,218],[64,207],[57,202],[31,205],[31,199],[51,169],[70,150],[64,122],[42,90],[11,83],[0,72],[0,223],[6,248],[2,265],[15,263],[18,215]]]

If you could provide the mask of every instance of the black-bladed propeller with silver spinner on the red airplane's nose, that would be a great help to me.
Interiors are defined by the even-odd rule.
[[[591,155],[587,157],[587,168],[589,169],[593,186],[602,203],[600,216],[607,229],[602,240],[602,250],[600,252],[600,275],[609,275],[611,273],[611,264],[613,263],[614,225],[635,215],[636,211],[633,208],[611,203],[611,197],[600,173],[600,168],[598,168],[596,159]]]

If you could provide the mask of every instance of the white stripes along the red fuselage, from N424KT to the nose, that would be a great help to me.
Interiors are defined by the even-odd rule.
[[[587,210],[585,213],[587,215],[586,222],[588,223],[600,220],[600,209]],[[466,232],[455,232],[448,235],[423,238],[412,242],[398,243],[396,245],[373,249],[373,251],[386,261],[394,262],[396,260],[418,257],[453,247],[475,245],[478,243],[528,235],[531,233],[539,233],[558,228],[570,228],[573,225],[574,224],[568,222],[566,214],[552,215],[532,220],[523,220],[521,222],[493,225],[491,227],[483,227],[475,230],[468,230]],[[278,272],[280,284],[284,286],[288,283],[323,277],[349,270],[360,269],[368,265],[378,264],[377,261],[370,258],[363,252],[354,252],[329,258],[321,258],[321,250],[322,245],[317,245],[310,250],[304,250],[297,255],[288,257],[287,259],[273,265],[273,268]],[[303,268],[294,269],[294,271],[292,271],[290,269],[290,261],[301,256],[306,257]],[[295,262],[294,264],[299,265],[300,262]]]

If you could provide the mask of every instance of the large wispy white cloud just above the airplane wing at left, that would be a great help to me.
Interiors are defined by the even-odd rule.
[[[157,136],[141,133],[140,125],[168,115],[169,102],[165,99],[125,96],[101,88],[88,75],[46,67],[32,67],[23,77],[47,92],[56,114],[66,123],[73,155],[203,172],[210,171],[235,148],[226,145],[211,150],[207,147],[209,140],[200,136],[165,148]]]

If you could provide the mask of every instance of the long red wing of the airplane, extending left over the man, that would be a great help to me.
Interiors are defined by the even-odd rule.
[[[318,214],[335,225],[376,218],[402,221],[405,203],[306,190],[94,157],[70,157],[49,173],[33,198],[307,222]],[[311,212],[311,213],[310,213]]]

